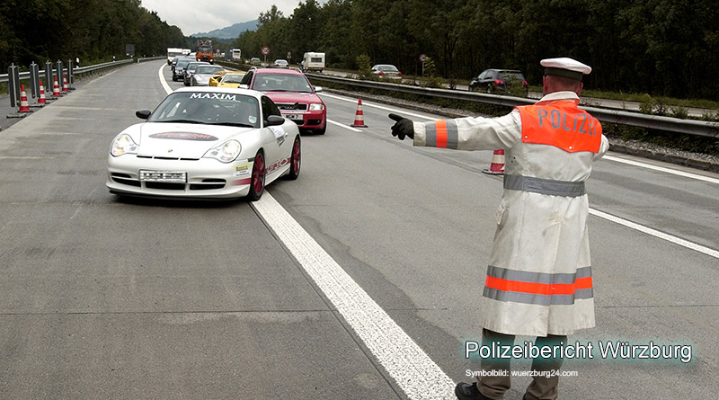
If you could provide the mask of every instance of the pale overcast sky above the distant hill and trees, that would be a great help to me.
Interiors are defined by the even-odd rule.
[[[142,6],[156,11],[169,25],[177,25],[185,36],[222,29],[237,22],[256,20],[272,4],[288,17],[300,0],[142,0]]]

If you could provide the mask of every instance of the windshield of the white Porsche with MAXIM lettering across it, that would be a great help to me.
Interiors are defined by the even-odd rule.
[[[257,99],[238,93],[171,93],[147,122],[182,122],[260,128]]]

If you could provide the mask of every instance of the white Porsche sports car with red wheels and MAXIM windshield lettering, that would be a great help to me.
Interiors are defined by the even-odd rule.
[[[263,93],[191,87],[167,95],[146,122],[112,140],[111,193],[181,199],[259,200],[266,184],[297,179],[297,124]]]

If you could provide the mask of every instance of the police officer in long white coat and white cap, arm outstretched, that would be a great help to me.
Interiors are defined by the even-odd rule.
[[[499,118],[413,122],[390,114],[392,135],[414,146],[458,150],[504,149],[502,201],[484,280],[479,322],[483,343],[511,345],[536,336],[555,348],[568,334],[594,326],[589,202],[584,181],[608,150],[599,120],[579,109],[581,78],[591,68],[572,58],[549,58],[539,102]],[[535,359],[527,400],[555,399],[562,359]],[[509,360],[484,359],[485,374],[459,383],[457,398],[502,399],[510,388]],[[494,376],[488,376],[494,375]]]

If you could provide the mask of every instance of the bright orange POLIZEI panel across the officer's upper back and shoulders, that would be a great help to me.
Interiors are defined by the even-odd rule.
[[[579,100],[558,100],[516,107],[522,120],[522,142],[570,153],[599,153],[601,124],[578,104]]]

